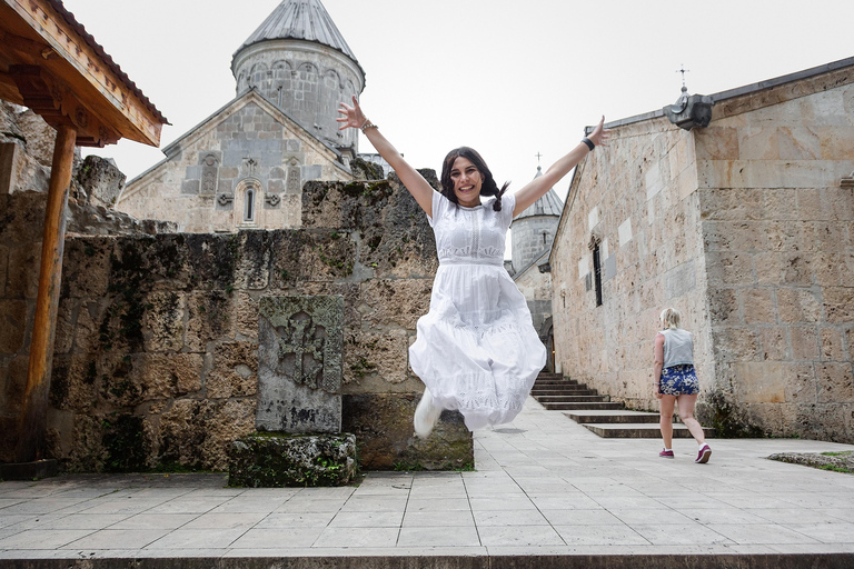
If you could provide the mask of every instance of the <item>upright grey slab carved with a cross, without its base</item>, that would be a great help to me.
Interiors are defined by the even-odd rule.
[[[259,430],[341,429],[344,297],[264,297],[259,306]]]

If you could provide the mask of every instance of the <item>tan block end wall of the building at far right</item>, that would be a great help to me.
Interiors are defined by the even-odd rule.
[[[774,94],[696,134],[719,420],[852,442],[854,84]]]

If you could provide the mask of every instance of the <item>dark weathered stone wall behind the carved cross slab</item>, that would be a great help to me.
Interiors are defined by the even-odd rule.
[[[470,433],[453,417],[435,440],[411,432],[423,385],[408,347],[437,267],[426,217],[394,178],[310,182],[302,196],[298,230],[67,239],[48,431],[67,469],[225,468],[228,445],[255,430],[259,299],[288,295],[345,299],[344,429],[364,465],[473,462]],[[9,251],[41,224],[24,206],[3,210]],[[6,432],[26,382],[38,273],[27,250],[0,263],[0,305],[14,325],[0,335]],[[8,461],[11,442],[1,442]]]

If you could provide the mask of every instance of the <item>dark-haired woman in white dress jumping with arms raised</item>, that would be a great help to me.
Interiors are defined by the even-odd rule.
[[[457,409],[475,430],[512,421],[522,410],[546,349],[532,325],[525,297],[504,269],[504,246],[513,218],[606,141],[605,119],[545,174],[505,194],[475,150],[451,150],[441,168],[441,192],[409,166],[361,110],[341,103],[340,129],[359,128],[427,213],[436,236],[439,268],[430,310],[418,319],[409,362],[425,390],[413,423],[427,437],[443,409]],[[490,198],[486,203],[481,197]]]

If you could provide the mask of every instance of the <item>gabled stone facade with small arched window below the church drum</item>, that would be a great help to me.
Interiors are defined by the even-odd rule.
[[[340,156],[256,91],[167,147],[131,180],[116,209],[193,233],[300,226],[310,180],[352,180]]]

